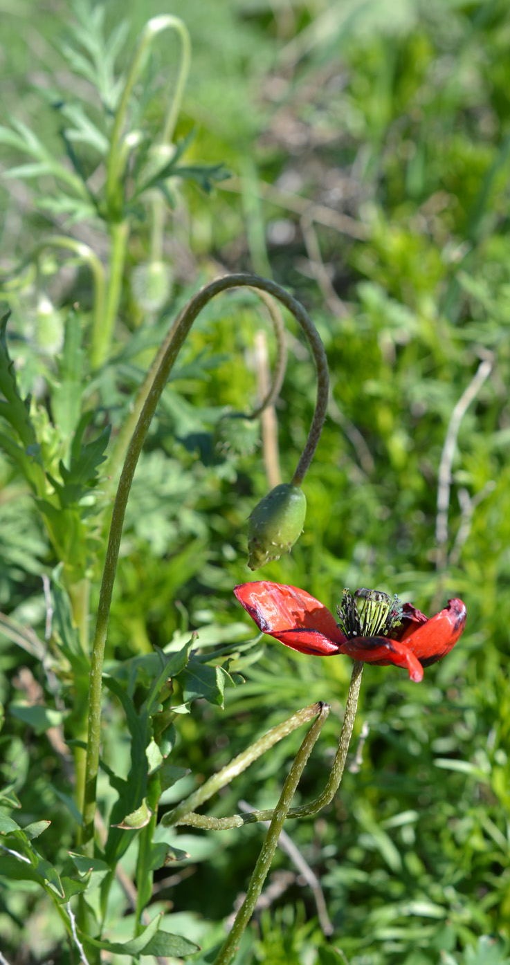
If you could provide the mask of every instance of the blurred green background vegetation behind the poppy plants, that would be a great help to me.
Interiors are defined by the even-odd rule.
[[[428,614],[448,596],[467,604],[461,642],[419,686],[394,668],[365,670],[355,734],[364,726],[362,754],[355,761],[352,748],[351,769],[326,813],[288,822],[320,879],[332,938],[322,930],[309,886],[279,850],[267,906],[236,961],[508,963],[508,4],[187,0],[183,10],[171,0],[107,0],[105,10],[108,30],[127,20],[127,50],[149,16],[184,16],[193,56],[177,136],[194,128],[187,156],[221,162],[231,178],[210,195],[181,186],[165,233],[172,293],[161,313],[144,311],[137,290],[136,269],[148,257],[147,224],[140,220],[131,235],[120,348],[100,376],[98,425],[104,419],[114,432],[121,425],[128,393],[200,284],[225,269],[273,277],[303,301],[321,332],[332,400],[304,483],[304,533],[291,557],[255,578],[302,587],[333,609],[346,586],[398,593]],[[0,12],[4,123],[14,117],[29,125],[61,155],[54,91],[65,90],[71,101],[91,97],[66,58],[70,5],[0,0]],[[156,43],[142,94],[155,128],[177,51],[166,37]],[[3,175],[22,161],[2,145]],[[70,219],[43,203],[51,196],[49,180],[2,181],[4,275],[52,233],[83,240],[105,258],[99,222]],[[25,391],[43,399],[59,335],[50,331],[44,342],[42,295],[63,317],[75,303],[86,312],[87,272],[62,267],[52,255],[12,306],[18,371]],[[258,329],[267,332],[272,357],[263,310],[245,294],[229,296],[198,319],[184,347],[130,498],[110,661],[164,647],[187,627],[214,624],[207,633],[218,643],[253,635],[232,589],[253,578],[245,565],[245,519],[269,483],[260,449],[217,455],[213,431],[224,406],[242,410],[256,402]],[[131,343],[141,332],[145,341]],[[289,333],[276,405],[285,481],[315,395],[313,365],[292,320]],[[136,350],[128,348],[133,344]],[[445,454],[455,406],[469,385],[472,398],[465,397],[456,444]],[[448,452],[445,527],[444,512],[438,526],[438,488],[441,455],[448,480]],[[0,606],[43,635],[42,575],[59,561],[7,457],[0,486]],[[97,599],[98,573],[95,580]],[[321,699],[332,713],[299,799],[324,785],[350,661],[312,659],[269,638],[248,652],[252,662],[238,662],[246,682],[226,692],[224,708],[197,702],[179,723],[176,762],[193,776],[176,786],[174,799],[197,774],[207,777],[298,706]],[[27,698],[31,681],[45,685],[41,670],[4,636],[0,669],[7,715],[2,777],[15,781],[25,819],[51,818],[42,850],[65,855],[72,836],[59,794],[70,793],[69,775],[47,730],[27,731],[9,713],[11,701]],[[105,700],[104,756],[119,763],[128,753],[125,722],[118,704]],[[237,811],[240,798],[252,807],[274,803],[298,742],[295,733],[258,761],[220,795],[212,813]],[[105,813],[108,793],[99,786]],[[165,800],[171,803],[169,792]],[[212,946],[246,886],[262,835],[258,825],[180,832],[177,843],[190,858],[156,872],[151,913],[170,911],[172,930]],[[130,851],[128,873],[129,862]],[[119,890],[112,921],[123,914],[122,900]],[[2,951],[12,965],[67,962],[55,928],[35,893],[0,897]]]

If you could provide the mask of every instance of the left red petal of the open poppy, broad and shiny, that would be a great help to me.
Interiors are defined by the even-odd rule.
[[[333,615],[305,590],[257,580],[234,593],[259,629],[286,647],[323,656],[341,652],[346,638]]]

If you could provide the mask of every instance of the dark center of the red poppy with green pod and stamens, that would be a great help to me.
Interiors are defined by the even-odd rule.
[[[387,636],[402,622],[402,603],[395,594],[393,599],[380,590],[362,587],[350,593],[342,593],[342,602],[336,608],[338,626],[348,639],[352,637]]]

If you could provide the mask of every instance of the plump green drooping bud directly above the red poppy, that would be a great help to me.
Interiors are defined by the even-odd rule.
[[[306,497],[297,485],[280,483],[271,489],[248,519],[248,566],[258,569],[290,553],[302,533]]]

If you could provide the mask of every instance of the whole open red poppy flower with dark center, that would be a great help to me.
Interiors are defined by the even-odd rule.
[[[354,660],[406,667],[411,680],[436,663],[457,643],[466,625],[462,600],[431,620],[411,603],[376,590],[344,590],[339,623],[305,590],[260,580],[234,590],[241,605],[264,633],[301,653],[331,656],[347,653]]]

